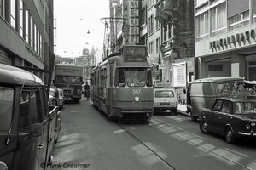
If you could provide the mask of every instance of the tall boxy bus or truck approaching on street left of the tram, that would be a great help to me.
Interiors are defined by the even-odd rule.
[[[83,65],[55,65],[54,85],[63,90],[64,99],[73,99],[79,103],[83,83]]]

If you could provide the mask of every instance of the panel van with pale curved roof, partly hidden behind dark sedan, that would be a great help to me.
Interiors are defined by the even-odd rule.
[[[202,108],[211,108],[219,96],[224,96],[224,88],[243,81],[241,77],[208,77],[189,82],[187,112],[190,112],[192,121],[201,117]]]

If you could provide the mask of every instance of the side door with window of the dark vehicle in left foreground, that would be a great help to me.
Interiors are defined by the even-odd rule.
[[[20,97],[19,150],[15,152],[15,169],[38,170],[45,163],[48,144],[48,123],[43,123],[43,133],[33,135],[31,128],[42,123],[42,107],[38,89],[23,90]]]

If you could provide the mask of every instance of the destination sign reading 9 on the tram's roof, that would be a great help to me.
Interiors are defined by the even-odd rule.
[[[127,62],[145,62],[147,60],[147,46],[125,46],[124,58]]]

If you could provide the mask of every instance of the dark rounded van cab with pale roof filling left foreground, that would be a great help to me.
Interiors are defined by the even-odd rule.
[[[58,107],[49,107],[46,90],[31,72],[0,64],[1,169],[44,170],[50,161],[50,116]]]

